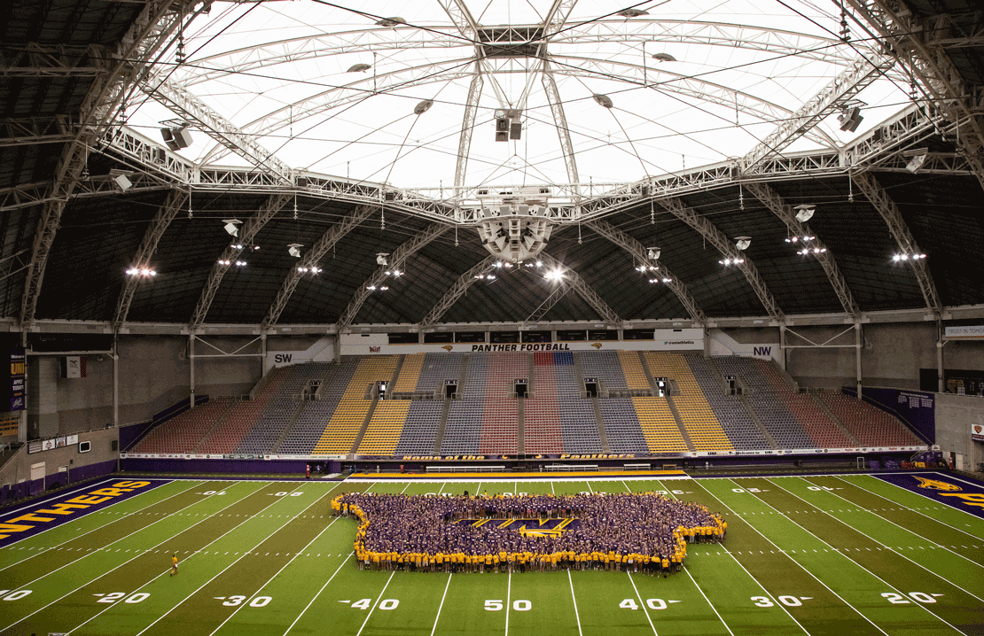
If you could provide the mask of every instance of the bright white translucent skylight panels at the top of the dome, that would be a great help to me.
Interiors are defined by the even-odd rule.
[[[449,0],[450,1],[450,0]],[[534,26],[543,0],[465,0],[484,28]],[[745,154],[860,56],[877,47],[849,19],[841,42],[839,5],[830,0],[666,0],[623,6],[578,2],[547,45],[581,183],[630,182]],[[363,12],[369,12],[367,15]],[[379,27],[380,18],[406,25]],[[312,0],[230,5],[215,2],[185,35],[187,61],[174,51],[158,77],[183,85],[215,112],[293,168],[449,188],[474,44],[436,1]],[[675,62],[653,59],[668,53]],[[356,64],[371,68],[347,73]],[[464,185],[569,182],[554,116],[532,58],[485,63]],[[530,72],[533,69],[534,72]],[[494,141],[500,97],[516,107],[529,87],[519,141]],[[843,145],[907,104],[908,86],[882,78],[858,97],[867,103],[855,133],[835,116],[785,152]],[[608,95],[613,107],[592,94]],[[421,100],[434,105],[413,114]],[[159,138],[174,114],[153,100],[131,107],[129,123]],[[249,165],[203,133],[181,151],[189,159]]]

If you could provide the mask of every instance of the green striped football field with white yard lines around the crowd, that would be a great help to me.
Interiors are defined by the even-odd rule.
[[[949,488],[920,491],[915,475],[110,479],[0,515],[0,634],[984,634],[984,495],[953,494],[982,490],[918,475]],[[362,571],[355,520],[330,512],[344,491],[664,491],[721,513],[728,534],[690,545],[668,578]]]

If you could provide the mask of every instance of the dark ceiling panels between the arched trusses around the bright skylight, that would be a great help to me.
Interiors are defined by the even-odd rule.
[[[926,21],[942,14],[952,14],[964,23],[976,20],[979,25],[981,21],[979,8],[969,2],[907,1]],[[144,8],[141,2],[111,0],[0,3],[3,317],[22,317],[31,258],[51,205],[45,197],[50,197],[49,185],[57,179],[69,145],[57,133],[75,130],[59,128],[58,122],[78,122],[92,90],[93,74],[106,67],[110,52]],[[35,45],[61,47],[58,64],[77,72],[35,77],[15,72],[36,63],[30,55]],[[984,78],[981,43],[948,49],[948,54],[965,85],[979,94]],[[978,109],[975,116],[984,115]],[[27,135],[26,127],[33,127],[35,142],[21,139]],[[935,136],[924,141],[933,151],[956,151],[952,140]],[[115,174],[111,170],[133,168],[111,151],[92,147],[86,174],[97,179]],[[927,271],[940,304],[945,308],[984,305],[984,192],[977,176],[959,171],[883,171],[877,165],[868,176],[894,202],[915,244],[928,255]],[[927,307],[912,266],[892,261],[899,244],[889,224],[851,176],[784,178],[769,187],[787,205],[816,205],[809,226],[829,251],[861,312]],[[28,191],[40,193],[39,201],[19,194]],[[135,193],[72,196],[64,202],[33,318],[112,321],[127,285],[126,270],[137,264],[134,259],[154,217],[171,193],[162,186]],[[190,204],[180,207],[159,237],[150,261],[156,275],[136,283],[126,320],[191,321],[216,261],[234,242],[223,229],[223,220],[246,221],[269,199],[262,193],[234,188],[194,192]],[[732,183],[685,194],[679,202],[710,221],[729,241],[751,237],[750,247],[742,254],[754,264],[782,314],[844,313],[825,268],[814,256],[797,254],[799,245],[786,240],[791,236],[787,225],[747,188]],[[241,260],[246,264],[224,272],[206,323],[264,322],[299,262],[288,254],[288,245],[311,249],[359,207],[354,202],[326,201],[300,192],[296,209],[295,215],[294,201],[286,202],[243,250]],[[619,208],[603,221],[646,247],[658,246],[659,262],[685,285],[707,318],[769,316],[749,277],[735,266],[722,264],[724,256],[712,242],[658,199]],[[377,253],[397,253],[401,245],[435,222],[399,208],[374,209],[318,260],[321,272],[300,276],[277,324],[338,322],[352,299],[368,291],[366,285],[380,269]],[[538,312],[550,302],[557,283],[546,280],[542,268],[520,264],[490,267],[494,280],[469,281],[473,284],[439,321],[526,322],[533,316],[544,321],[603,319],[571,284],[575,277],[621,320],[691,318],[668,285],[650,282],[651,274],[636,270],[640,263],[635,256],[588,223],[555,227],[544,252],[570,273],[568,282],[562,283],[569,290],[542,316]],[[386,279],[389,289],[369,293],[351,323],[418,323],[462,275],[488,256],[474,228],[449,226],[405,260],[403,275]]]

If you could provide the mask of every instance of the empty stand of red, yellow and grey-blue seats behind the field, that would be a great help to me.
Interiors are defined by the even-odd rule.
[[[743,394],[727,390],[736,378]],[[517,399],[516,380],[528,397]],[[588,397],[584,378],[595,378]],[[666,378],[656,390],[653,378]],[[413,399],[380,399],[391,393]],[[457,383],[455,399],[445,387]],[[317,389],[315,399],[302,395]],[[454,390],[451,392],[455,392]],[[668,352],[346,357],[268,374],[250,400],[219,398],[147,434],[145,453],[679,453],[921,443],[875,407],[797,393],[768,361]],[[522,438],[521,438],[522,432]]]

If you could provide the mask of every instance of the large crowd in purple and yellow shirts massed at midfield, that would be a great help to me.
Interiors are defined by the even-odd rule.
[[[374,569],[499,572],[568,567],[665,576],[680,568],[688,542],[720,542],[727,532],[727,523],[706,506],[657,492],[347,492],[333,499],[332,509],[359,519],[355,554],[359,567]],[[550,519],[558,521],[547,523]]]

